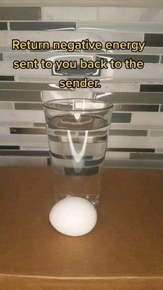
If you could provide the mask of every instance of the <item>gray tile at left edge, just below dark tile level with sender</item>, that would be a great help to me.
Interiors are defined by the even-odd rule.
[[[8,84],[8,83],[7,83]],[[1,83],[0,83],[1,86]],[[0,101],[41,102],[40,91],[0,91]]]

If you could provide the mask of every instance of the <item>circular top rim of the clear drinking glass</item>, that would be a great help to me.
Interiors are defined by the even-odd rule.
[[[59,101],[66,101],[66,102],[70,102],[70,101],[73,101],[73,100],[86,100],[87,102],[97,102],[97,103],[102,103],[102,104],[105,104],[106,107],[105,108],[93,108],[93,109],[59,109],[59,108],[54,108],[54,107],[51,107],[50,105],[50,102],[52,103],[55,103],[55,102],[59,102]],[[102,101],[102,100],[95,100],[95,99],[86,99],[86,98],[65,98],[65,99],[56,99],[56,100],[48,100],[46,102],[44,102],[43,106],[46,108],[46,109],[51,109],[51,110],[54,110],[54,111],[107,111],[108,109],[111,109],[113,108],[113,104],[109,103],[109,102],[106,102],[106,101]]]

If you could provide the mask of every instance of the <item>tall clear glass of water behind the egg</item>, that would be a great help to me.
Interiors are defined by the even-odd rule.
[[[91,99],[44,102],[55,202],[83,197],[99,203],[113,105]]]

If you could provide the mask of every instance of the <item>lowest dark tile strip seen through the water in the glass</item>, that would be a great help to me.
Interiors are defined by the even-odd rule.
[[[79,171],[79,168],[70,168],[70,167],[65,167],[64,168],[65,174],[66,175],[77,175],[77,176],[90,176],[97,174],[99,171],[99,167],[90,167],[90,168],[81,168]]]

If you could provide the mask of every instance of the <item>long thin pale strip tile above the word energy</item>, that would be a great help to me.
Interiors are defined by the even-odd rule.
[[[109,21],[109,19],[108,19]],[[142,33],[162,33],[163,24],[130,23],[128,22],[79,22],[79,30],[108,30],[108,31],[133,31]]]

